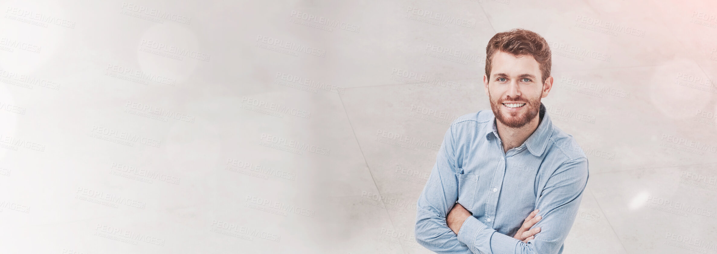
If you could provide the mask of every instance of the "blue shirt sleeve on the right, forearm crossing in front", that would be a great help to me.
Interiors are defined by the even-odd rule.
[[[465,220],[458,231],[458,240],[473,253],[493,254],[555,254],[562,249],[575,221],[582,193],[589,177],[587,158],[564,162],[551,175],[536,202],[543,218],[533,226],[541,232],[533,240],[521,240],[498,233],[477,218]]]

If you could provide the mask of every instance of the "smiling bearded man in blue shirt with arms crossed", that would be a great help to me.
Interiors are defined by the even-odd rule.
[[[541,102],[553,87],[550,48],[513,29],[485,51],[492,110],[447,130],[417,202],[416,240],[436,253],[562,253],[588,161]]]

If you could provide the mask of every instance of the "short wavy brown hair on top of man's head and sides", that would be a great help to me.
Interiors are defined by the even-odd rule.
[[[496,51],[502,51],[514,56],[531,55],[540,64],[540,72],[545,84],[545,80],[550,76],[551,52],[548,41],[543,36],[534,31],[526,29],[512,29],[511,31],[503,31],[495,34],[488,41],[485,47],[485,75],[490,80],[490,68],[493,62],[493,54]]]

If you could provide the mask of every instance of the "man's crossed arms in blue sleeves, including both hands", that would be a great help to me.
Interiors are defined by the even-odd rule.
[[[488,227],[455,203],[458,200],[458,180],[454,149],[451,127],[446,132],[436,164],[417,202],[417,243],[435,253],[561,252],[587,184],[587,159],[566,161],[555,170],[536,200],[538,212],[531,213],[535,218],[528,215],[531,219],[526,218],[521,230],[511,237]],[[541,218],[536,219],[538,216]],[[533,225],[536,228],[528,231]],[[540,228],[540,233],[537,228]],[[523,238],[524,235],[533,238]]]

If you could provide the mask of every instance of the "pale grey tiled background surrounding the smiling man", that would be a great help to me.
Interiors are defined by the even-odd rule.
[[[485,44],[516,27],[550,41],[543,103],[589,157],[564,253],[717,253],[714,1],[0,9],[0,253],[430,253],[430,144],[490,109]]]

